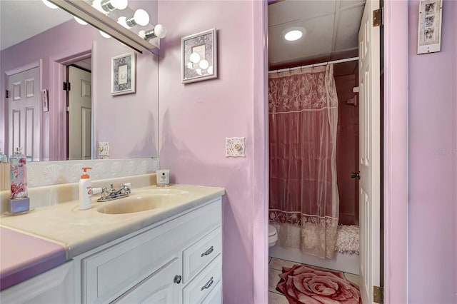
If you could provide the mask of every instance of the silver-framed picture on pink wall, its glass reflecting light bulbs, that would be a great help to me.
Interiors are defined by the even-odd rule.
[[[217,78],[217,31],[181,38],[181,83]]]

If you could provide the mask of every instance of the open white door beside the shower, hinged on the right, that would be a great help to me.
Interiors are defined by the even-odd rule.
[[[360,88],[360,288],[363,303],[373,303],[380,285],[381,106],[380,31],[373,26],[379,1],[367,0],[358,32]]]

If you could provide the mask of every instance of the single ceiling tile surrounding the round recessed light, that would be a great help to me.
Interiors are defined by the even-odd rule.
[[[306,29],[306,35],[297,41],[286,41],[282,38],[283,32],[292,26],[301,26]],[[301,60],[330,54],[333,36],[333,15],[326,15],[314,19],[295,21],[288,24],[271,26],[268,28],[269,53],[271,64],[281,61]]]

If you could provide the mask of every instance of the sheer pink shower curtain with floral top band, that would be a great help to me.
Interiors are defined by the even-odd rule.
[[[269,218],[278,245],[332,258],[339,209],[333,65],[268,78]]]

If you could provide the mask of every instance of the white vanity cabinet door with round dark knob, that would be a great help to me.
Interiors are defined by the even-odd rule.
[[[181,303],[180,286],[174,283],[175,275],[181,275],[181,258],[174,258],[166,263],[112,303]]]

